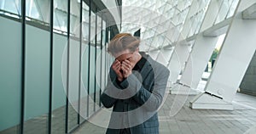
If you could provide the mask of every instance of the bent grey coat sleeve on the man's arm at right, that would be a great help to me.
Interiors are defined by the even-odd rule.
[[[129,90],[127,90],[127,93],[134,94],[134,92],[137,92],[132,97],[135,101],[137,101],[137,103],[140,103],[149,111],[157,110],[164,98],[169,74],[170,71],[164,66],[160,66],[158,69],[156,69],[154,71],[154,80],[152,80],[154,81],[154,85],[149,87],[153,88],[152,90],[145,89],[141,84],[142,82],[137,79],[136,75],[129,75],[127,80],[129,82]]]

